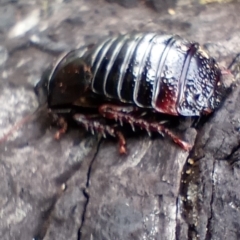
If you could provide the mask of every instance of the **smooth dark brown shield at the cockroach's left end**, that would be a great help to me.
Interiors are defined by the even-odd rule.
[[[91,69],[81,58],[80,50],[73,50],[42,74],[35,87],[39,103],[47,102],[49,108],[73,105],[89,89]]]

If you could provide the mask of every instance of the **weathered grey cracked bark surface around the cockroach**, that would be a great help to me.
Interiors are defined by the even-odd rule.
[[[225,66],[240,52],[237,3],[160,15],[139,2],[130,10],[94,0],[11,2],[0,5],[0,136],[37,108],[43,69],[77,45],[166,31],[207,43]],[[16,24],[29,13],[20,36]],[[190,154],[147,134],[127,137],[126,156],[115,140],[83,129],[55,141],[42,113],[0,144],[0,239],[239,239],[239,91],[203,126],[179,131],[195,143]]]

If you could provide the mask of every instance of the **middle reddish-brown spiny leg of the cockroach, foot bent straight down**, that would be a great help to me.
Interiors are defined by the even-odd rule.
[[[99,122],[99,119],[95,119],[96,116],[87,116],[84,114],[75,114],[73,119],[83,125],[87,130],[90,130],[92,133],[94,131],[101,133],[104,137],[106,134],[118,138],[119,141],[119,152],[121,154],[126,154],[126,141],[123,134],[118,131],[115,127],[102,124]]]

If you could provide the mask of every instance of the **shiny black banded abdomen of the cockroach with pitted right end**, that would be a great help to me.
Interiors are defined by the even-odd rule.
[[[206,53],[176,35],[116,36],[83,58],[91,66],[93,92],[172,115],[199,115],[201,102],[208,101],[216,84],[217,70],[209,67]],[[200,67],[205,67],[202,76]],[[212,80],[204,83],[211,74]]]

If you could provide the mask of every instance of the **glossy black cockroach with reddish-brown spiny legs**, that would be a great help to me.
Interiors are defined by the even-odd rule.
[[[190,144],[163,124],[141,114],[146,110],[175,116],[209,114],[229,86],[223,75],[198,43],[177,35],[132,33],[69,52],[36,91],[47,97],[48,108],[58,118],[61,129],[56,138],[66,131],[64,116],[70,115],[93,132],[118,137],[119,151],[125,153],[122,133],[116,124],[102,123],[101,117],[166,134],[190,150]]]

